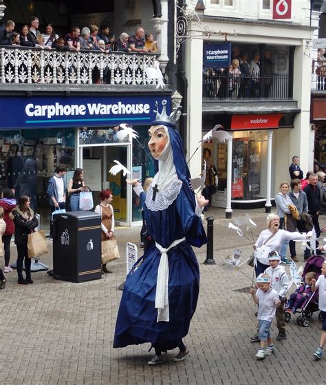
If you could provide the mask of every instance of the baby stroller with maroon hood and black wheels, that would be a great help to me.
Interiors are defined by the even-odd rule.
[[[302,273],[302,281],[305,282],[305,275],[307,273],[315,273],[316,274],[316,280],[320,275],[320,269],[322,267],[322,264],[324,262],[323,256],[312,256],[310,257],[306,264],[305,268],[303,269]],[[291,312],[290,309],[286,309],[284,313],[285,322],[290,322],[291,320]],[[296,323],[300,326],[307,327],[309,325],[310,318],[312,318],[312,315],[315,311],[319,311],[318,309],[318,289],[312,293],[312,295],[303,302],[303,304],[296,310],[296,313],[298,313],[298,318],[296,318]],[[321,313],[318,314],[318,319],[322,320]]]

